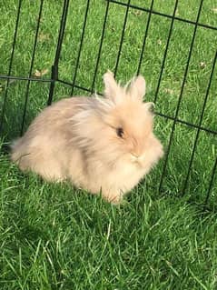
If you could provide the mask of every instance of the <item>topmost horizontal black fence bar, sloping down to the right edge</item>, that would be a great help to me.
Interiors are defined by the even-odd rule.
[[[163,17],[167,17],[167,18],[174,18],[175,20],[179,20],[181,22],[185,22],[185,23],[188,23],[188,24],[191,24],[191,25],[197,25],[197,26],[201,26],[201,27],[204,27],[204,28],[208,28],[208,29],[212,29],[212,30],[217,30],[217,27],[216,26],[212,26],[212,25],[203,25],[202,23],[196,23],[195,21],[192,21],[192,20],[188,20],[188,19],[184,19],[184,18],[181,18],[181,17],[177,17],[177,16],[174,16],[173,15],[166,15],[162,12],[158,12],[158,11],[154,11],[154,10],[150,10],[148,8],[144,8],[144,7],[141,7],[141,6],[137,6],[137,5],[127,5],[126,3],[123,3],[123,2],[119,2],[119,1],[116,1],[116,0],[105,0],[105,1],[109,1],[113,4],[116,4],[116,5],[123,5],[125,7],[130,7],[130,8],[134,8],[134,9],[137,9],[137,10],[141,10],[141,11],[144,11],[144,12],[148,12],[148,13],[151,13],[153,15],[160,15],[160,16],[163,16]]]

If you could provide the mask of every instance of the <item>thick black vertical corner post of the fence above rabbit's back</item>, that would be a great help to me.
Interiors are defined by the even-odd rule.
[[[66,25],[68,7],[69,7],[69,0],[64,0],[63,12],[62,12],[62,17],[60,21],[60,28],[59,28],[59,35],[58,35],[58,42],[57,42],[57,47],[56,47],[55,57],[54,57],[54,65],[52,65],[52,72],[51,72],[52,81],[51,81],[51,85],[49,89],[47,105],[52,104],[52,100],[54,96],[54,86],[55,86],[55,82],[58,80],[58,65],[59,65],[62,44],[64,41],[64,29]]]

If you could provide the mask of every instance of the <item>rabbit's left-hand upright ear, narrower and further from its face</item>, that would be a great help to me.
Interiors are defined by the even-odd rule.
[[[114,104],[118,104],[123,100],[123,90],[116,83],[113,73],[109,70],[104,74],[104,96],[113,101]]]

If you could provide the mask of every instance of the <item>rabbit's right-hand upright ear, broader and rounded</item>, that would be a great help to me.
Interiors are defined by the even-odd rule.
[[[145,95],[145,80],[142,75],[136,76],[129,85],[128,93],[133,99],[143,102],[143,95]]]

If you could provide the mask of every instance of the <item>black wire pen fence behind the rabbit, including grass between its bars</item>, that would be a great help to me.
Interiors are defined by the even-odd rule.
[[[205,1],[188,5],[19,0],[12,7],[8,1],[2,6],[0,135],[5,141],[22,135],[37,112],[64,95],[102,93],[108,68],[117,79],[143,74],[166,151],[147,182],[163,194],[214,201],[217,8]]]

